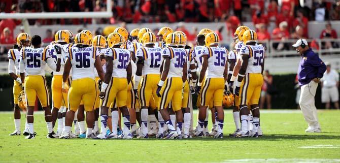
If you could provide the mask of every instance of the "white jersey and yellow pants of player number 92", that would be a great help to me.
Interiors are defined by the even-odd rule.
[[[112,57],[113,71],[101,106],[110,108],[114,101],[118,108],[126,106],[128,86],[126,69],[131,60],[131,52],[121,48],[107,48],[105,56]]]

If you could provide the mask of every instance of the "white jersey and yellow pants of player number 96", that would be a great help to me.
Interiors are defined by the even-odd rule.
[[[72,82],[68,93],[69,108],[77,111],[81,101],[85,111],[94,109],[97,96],[97,84],[94,80],[94,63],[98,53],[96,47],[72,46],[66,56],[70,58],[72,67]]]

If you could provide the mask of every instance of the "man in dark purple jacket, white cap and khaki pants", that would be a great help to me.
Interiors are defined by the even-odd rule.
[[[305,132],[320,133],[321,128],[318,122],[317,110],[315,107],[315,93],[326,71],[325,63],[319,58],[318,54],[308,46],[304,39],[299,39],[293,45],[301,55],[300,66],[297,71],[299,85],[301,86],[300,108],[308,128]]]

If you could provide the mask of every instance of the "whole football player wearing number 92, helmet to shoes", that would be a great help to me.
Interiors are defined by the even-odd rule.
[[[118,125],[118,110],[120,109],[123,115],[123,139],[132,139],[130,133],[130,115],[126,107],[127,101],[127,87],[131,82],[131,52],[129,50],[121,49],[121,45],[124,43],[123,37],[114,32],[109,44],[112,47],[106,49],[105,58],[106,73],[104,83],[101,85],[99,97],[103,99],[100,107],[100,119],[101,119],[101,133],[97,136],[97,139],[118,138],[117,128]],[[108,109],[116,99],[117,108],[111,110],[112,115],[112,133],[106,136],[106,126],[108,119]]]

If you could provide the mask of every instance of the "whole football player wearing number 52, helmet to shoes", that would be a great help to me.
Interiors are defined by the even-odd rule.
[[[262,44],[256,44],[257,34],[254,30],[246,30],[243,34],[240,54],[242,56],[241,69],[235,83],[235,95],[240,96],[241,133],[237,137],[258,137],[258,126],[260,110],[258,101],[260,99],[263,84],[262,73],[264,70],[265,48]],[[251,81],[251,82],[250,82]],[[248,105],[253,114],[252,131],[248,129]]]

